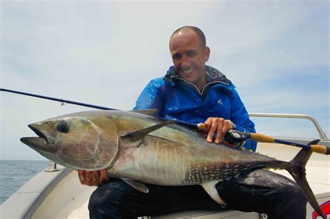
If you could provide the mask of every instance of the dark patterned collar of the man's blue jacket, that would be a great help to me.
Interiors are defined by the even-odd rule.
[[[181,79],[177,72],[174,70],[174,66],[171,66],[166,75],[164,76],[165,81],[175,82],[176,80]],[[228,85],[233,83],[226,78],[226,75],[222,74],[219,70],[215,69],[214,67],[210,67],[205,65],[205,81],[206,83],[212,82],[221,82],[227,83]]]

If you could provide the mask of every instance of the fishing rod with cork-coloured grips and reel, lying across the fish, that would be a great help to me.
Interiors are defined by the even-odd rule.
[[[34,95],[34,94],[31,94],[28,92],[20,92],[17,90],[8,90],[8,89],[4,89],[4,88],[0,88],[0,90],[4,91],[4,92],[12,92],[12,93],[15,93],[18,95],[26,95],[26,96],[37,97],[37,98],[41,98],[41,99],[49,99],[52,101],[61,102],[62,105],[63,104],[74,104],[74,105],[79,105],[79,106],[86,106],[89,108],[118,111],[118,109],[114,109],[114,108],[108,108],[108,107],[97,106],[97,105],[92,105],[92,104],[85,104],[85,103],[81,103],[81,102],[74,102],[74,101],[58,99],[58,98],[54,98],[54,97],[46,97],[46,96],[42,96],[42,95]],[[164,118],[162,118],[162,119],[164,119]],[[205,130],[205,125],[202,122],[198,123],[198,124],[184,122],[182,120],[173,120],[173,122],[190,127],[191,129],[196,129],[198,131]],[[324,146],[324,145],[302,145],[302,144],[292,143],[292,142],[285,141],[285,140],[278,140],[278,139],[272,138],[271,136],[266,136],[266,135],[263,135],[260,133],[245,133],[245,132],[230,129],[228,131],[228,133],[226,133],[225,138],[226,138],[226,141],[228,141],[228,142],[242,143],[244,140],[250,139],[250,140],[256,140],[257,142],[260,142],[260,143],[280,143],[280,144],[284,144],[284,145],[302,147],[304,149],[312,150],[313,152],[320,153],[320,154],[330,154],[330,148],[327,146]]]

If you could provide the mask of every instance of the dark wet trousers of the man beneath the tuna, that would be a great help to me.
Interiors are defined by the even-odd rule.
[[[177,211],[220,210],[202,186],[155,186],[141,193],[120,179],[111,179],[91,195],[90,218],[137,218]],[[306,218],[306,197],[294,181],[267,170],[224,179],[217,184],[226,209],[267,213],[269,218]]]

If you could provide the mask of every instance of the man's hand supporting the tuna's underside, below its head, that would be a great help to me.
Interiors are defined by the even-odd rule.
[[[107,170],[105,169],[100,171],[79,170],[78,177],[80,183],[86,186],[99,186],[104,184],[106,181],[109,181],[109,178],[107,177]]]

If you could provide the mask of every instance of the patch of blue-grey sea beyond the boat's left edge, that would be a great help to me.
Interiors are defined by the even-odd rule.
[[[49,161],[0,160],[0,205],[48,166]]]

